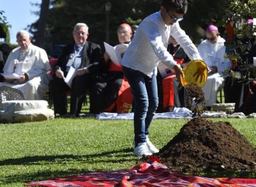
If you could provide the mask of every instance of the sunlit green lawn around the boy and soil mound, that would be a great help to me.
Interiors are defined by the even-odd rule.
[[[189,119],[156,119],[150,139],[158,148],[167,144]],[[212,119],[220,121],[220,119]],[[229,121],[256,146],[256,119]],[[99,121],[94,118],[0,125],[0,186],[25,183],[92,171],[131,168],[133,121]],[[255,177],[256,171],[199,173],[208,177]]]

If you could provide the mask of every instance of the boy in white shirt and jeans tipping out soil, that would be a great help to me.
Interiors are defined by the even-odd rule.
[[[159,150],[148,138],[149,126],[158,106],[156,68],[161,60],[174,68],[180,79],[182,68],[167,51],[172,35],[191,60],[201,57],[196,46],[180,28],[187,0],[162,0],[160,11],[145,18],[122,59],[123,72],[134,96],[134,155],[149,156]],[[202,75],[201,75],[202,76]]]

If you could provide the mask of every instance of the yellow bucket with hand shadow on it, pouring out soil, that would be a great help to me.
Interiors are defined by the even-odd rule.
[[[206,63],[202,60],[193,60],[188,62],[182,70],[184,77],[181,76],[182,86],[194,83],[199,87],[203,87],[206,84],[208,76],[208,68]]]

